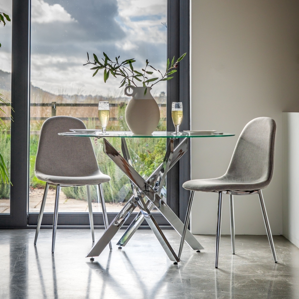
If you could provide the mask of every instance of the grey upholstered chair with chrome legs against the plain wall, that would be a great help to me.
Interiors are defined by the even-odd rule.
[[[234,199],[233,195],[248,195],[257,193],[260,199],[266,231],[277,263],[269,220],[265,208],[262,190],[270,184],[274,170],[274,144],[276,124],[272,118],[259,117],[251,120],[243,129],[234,149],[231,162],[225,175],[216,179],[191,180],[183,187],[191,191],[184,230],[179,249],[179,258],[183,250],[185,233],[190,220],[190,213],[195,191],[217,192],[218,217],[216,230],[215,267],[218,268],[219,242],[221,234],[221,213],[223,194],[229,194],[231,214],[231,245],[235,254]]]

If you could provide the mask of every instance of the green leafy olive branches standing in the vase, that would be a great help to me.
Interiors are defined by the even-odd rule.
[[[174,56],[173,56],[171,63],[168,58],[166,71],[164,74],[162,74],[161,71],[156,70],[152,65],[150,65],[148,60],[145,61],[146,65],[145,65],[145,68],[141,69],[141,71],[142,71],[142,73],[141,73],[139,71],[136,71],[133,67],[133,63],[136,61],[134,58],[124,60],[123,62],[120,63],[118,61],[120,56],[115,57],[115,61],[112,61],[112,60],[110,60],[110,58],[107,56],[107,54],[105,52],[103,52],[103,55],[104,55],[104,58],[102,58],[102,61],[100,62],[97,58],[97,55],[93,54],[94,62],[90,62],[89,54],[87,53],[87,63],[83,64],[83,65],[88,65],[88,64],[95,65],[94,67],[91,68],[91,70],[96,70],[94,72],[94,74],[92,75],[92,77],[94,77],[99,70],[104,68],[104,82],[105,83],[108,80],[110,74],[112,74],[112,76],[115,78],[117,76],[121,76],[121,77],[123,77],[123,80],[121,81],[120,87],[122,87],[124,85],[125,86],[134,85],[137,87],[135,82],[137,82],[137,81],[142,82],[142,86],[145,87],[144,94],[146,94],[147,86],[149,85],[150,82],[156,81],[155,83],[152,83],[152,85],[150,86],[150,87],[152,87],[153,85],[157,84],[160,81],[168,81],[173,78],[173,77],[169,77],[170,75],[172,75],[173,73],[175,73],[177,71],[173,68],[177,68],[179,66],[179,62],[185,57],[186,53],[184,53],[181,57],[179,57],[176,60],[176,62],[174,62],[175,61]],[[153,71],[147,71],[148,67],[152,68],[155,71],[158,71],[161,74],[161,79],[159,79],[159,77],[149,78],[148,75],[152,75]]]

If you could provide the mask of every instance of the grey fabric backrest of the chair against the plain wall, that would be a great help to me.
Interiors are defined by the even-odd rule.
[[[241,132],[226,174],[246,182],[271,181],[274,170],[276,123],[272,118],[251,120]]]

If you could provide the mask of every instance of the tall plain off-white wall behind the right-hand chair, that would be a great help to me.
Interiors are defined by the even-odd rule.
[[[191,178],[225,173],[253,118],[277,124],[275,169],[263,190],[272,233],[282,234],[282,112],[299,112],[299,1],[192,0],[191,128],[235,133],[193,138]],[[196,192],[193,234],[215,234],[217,194]],[[230,234],[228,196],[222,234]],[[236,234],[266,234],[257,195],[235,196]]]

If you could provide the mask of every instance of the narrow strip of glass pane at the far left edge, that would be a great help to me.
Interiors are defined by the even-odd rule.
[[[11,18],[11,0],[0,0],[1,12]],[[11,99],[11,22],[0,24],[0,153],[3,157],[7,171],[10,174],[10,99]],[[3,123],[2,123],[3,122]],[[10,213],[10,186],[0,185],[0,213]]]

